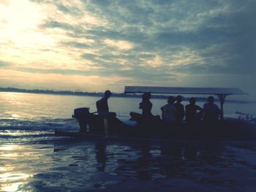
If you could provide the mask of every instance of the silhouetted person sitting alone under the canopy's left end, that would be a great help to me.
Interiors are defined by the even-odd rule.
[[[144,93],[142,96],[142,101],[139,104],[139,109],[142,110],[142,114],[138,112],[130,112],[129,115],[131,116],[132,120],[136,120],[137,122],[142,122],[149,120],[153,117],[151,113],[152,103],[149,101],[151,98],[151,93]]]

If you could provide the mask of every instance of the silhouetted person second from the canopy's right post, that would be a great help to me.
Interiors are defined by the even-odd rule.
[[[189,104],[185,106],[187,123],[197,123],[200,120],[200,114],[203,109],[195,104],[195,97],[189,99]]]

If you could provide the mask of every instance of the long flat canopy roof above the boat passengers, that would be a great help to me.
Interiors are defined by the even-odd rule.
[[[246,94],[239,88],[171,88],[171,87],[147,87],[126,86],[124,93],[178,93],[178,94],[214,94],[233,95]]]

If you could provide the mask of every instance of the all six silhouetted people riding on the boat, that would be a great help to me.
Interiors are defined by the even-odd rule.
[[[116,118],[116,112],[109,112],[108,109],[108,99],[111,96],[110,91],[105,91],[102,99],[97,101],[97,112],[102,118]],[[142,101],[139,104],[139,109],[142,113],[130,112],[132,120],[141,122],[150,122],[150,120],[156,118],[152,115],[152,103],[150,101],[151,93],[143,93]],[[162,111],[162,120],[166,124],[181,123],[184,118],[187,123],[197,123],[203,120],[206,123],[217,123],[219,120],[219,115],[221,111],[219,107],[214,104],[214,97],[209,96],[207,103],[203,105],[203,108],[196,105],[196,99],[191,97],[189,99],[189,104],[185,107],[181,104],[182,96],[169,96],[167,99],[167,104],[162,106],[160,109]]]

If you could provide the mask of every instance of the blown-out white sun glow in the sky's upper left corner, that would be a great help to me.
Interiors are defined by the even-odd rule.
[[[0,3],[0,43],[17,47],[49,44],[52,40],[37,31],[43,15],[39,7],[28,0]]]

